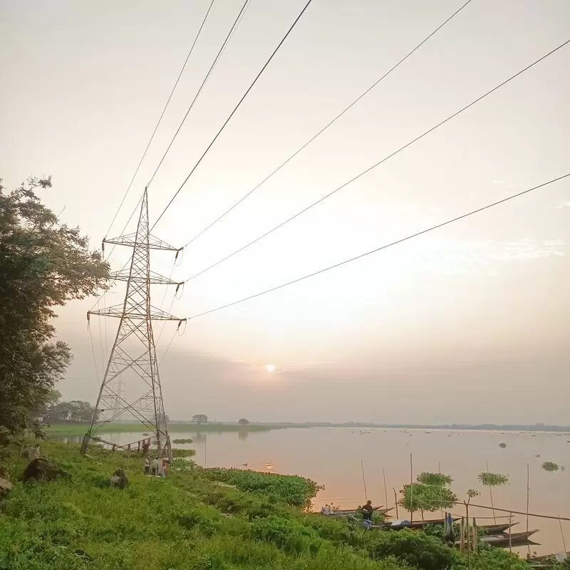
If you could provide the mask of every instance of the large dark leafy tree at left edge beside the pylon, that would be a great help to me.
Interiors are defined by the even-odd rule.
[[[33,413],[71,361],[53,338],[54,308],[95,294],[108,278],[88,239],[41,203],[35,190],[49,187],[51,177],[12,192],[0,184],[0,432],[8,434],[38,430]]]

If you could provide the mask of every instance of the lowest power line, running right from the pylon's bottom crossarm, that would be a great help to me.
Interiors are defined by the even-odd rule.
[[[314,277],[316,275],[320,275],[321,273],[324,273],[325,271],[330,271],[331,269],[336,269],[336,267],[340,267],[341,265],[346,265],[348,263],[351,263],[351,261],[356,261],[357,259],[362,259],[363,257],[366,257],[368,255],[380,252],[383,249],[387,249],[388,247],[392,247],[392,246],[401,244],[403,242],[407,242],[409,239],[413,239],[413,238],[421,236],[423,234],[427,234],[427,232],[432,232],[434,229],[438,229],[440,227],[447,226],[448,224],[452,224],[453,222],[457,222],[458,220],[472,216],[473,214],[478,214],[479,212],[483,212],[486,209],[492,208],[492,207],[497,206],[499,204],[503,204],[504,202],[508,202],[509,200],[512,200],[514,198],[518,198],[522,195],[525,195],[525,194],[528,194],[529,192],[532,192],[533,190],[538,190],[539,188],[542,188],[542,187],[547,186],[549,184],[552,184],[554,182],[558,182],[559,180],[563,180],[564,178],[569,177],[569,176],[570,176],[570,172],[568,174],[559,176],[557,178],[553,178],[552,180],[549,180],[548,182],[543,182],[542,184],[539,184],[538,186],[528,188],[527,190],[522,190],[522,192],[518,192],[517,194],[513,194],[513,195],[508,196],[506,198],[500,199],[497,202],[492,202],[492,204],[487,204],[487,206],[483,206],[483,207],[474,209],[471,212],[467,212],[467,214],[462,214],[462,215],[457,216],[455,218],[448,219],[447,222],[442,222],[441,224],[437,224],[435,226],[428,227],[427,229],[423,229],[420,232],[416,232],[415,234],[411,234],[409,236],[397,239],[395,242],[390,242],[389,244],[385,244],[383,246],[377,247],[376,249],[371,249],[371,251],[369,251],[369,252],[357,255],[356,257],[351,257],[350,259],[345,259],[344,261],[341,261],[340,263],[325,267],[324,269],[319,269],[318,271],[315,271],[314,273],[304,275],[302,277],[299,277],[298,279],[294,279],[293,281],[288,281],[287,283],[278,285],[276,287],[271,287],[271,289],[266,289],[265,291],[261,291],[261,293],[256,293],[254,295],[250,295],[249,297],[245,297],[244,299],[239,299],[239,301],[233,301],[232,303],[228,303],[226,305],[219,306],[216,309],[210,309],[209,311],[204,311],[203,313],[192,315],[192,316],[188,317],[188,320],[190,320],[191,318],[198,318],[199,316],[208,315],[210,313],[214,313],[215,311],[221,311],[222,309],[227,309],[227,307],[231,307],[231,306],[237,305],[239,303],[244,303],[245,301],[255,299],[256,297],[259,297],[261,295],[265,295],[266,293],[271,293],[271,291],[276,291],[277,289],[283,289],[284,287],[289,286],[289,285],[293,285],[294,283],[299,283],[299,281],[304,281],[305,279],[309,279],[309,277]]]

